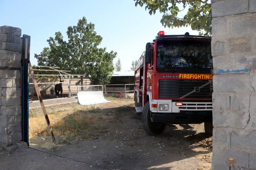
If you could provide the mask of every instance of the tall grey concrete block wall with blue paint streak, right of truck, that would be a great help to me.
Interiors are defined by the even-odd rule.
[[[256,169],[256,0],[212,0],[212,170]],[[231,168],[233,169],[233,168]]]

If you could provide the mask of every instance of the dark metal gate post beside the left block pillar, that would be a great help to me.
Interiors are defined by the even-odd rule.
[[[21,37],[21,95],[22,95],[22,141],[28,145],[28,98],[29,98],[29,71],[30,36]]]

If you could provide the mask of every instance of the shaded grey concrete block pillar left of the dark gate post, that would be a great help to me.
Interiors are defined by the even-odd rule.
[[[21,137],[21,29],[0,26],[0,146]]]

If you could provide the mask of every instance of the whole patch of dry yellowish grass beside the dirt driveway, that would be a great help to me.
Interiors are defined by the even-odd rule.
[[[70,144],[80,139],[95,139],[112,127],[109,122],[116,119],[116,113],[122,112],[124,103],[133,100],[111,100],[112,102],[65,108],[48,112],[57,144]],[[42,149],[54,151],[49,129],[42,113],[29,113],[29,143]],[[117,114],[118,115],[118,114]]]

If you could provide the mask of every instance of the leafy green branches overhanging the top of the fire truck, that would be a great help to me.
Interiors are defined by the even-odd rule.
[[[192,30],[199,31],[200,35],[212,34],[212,8],[210,0],[134,0],[135,6],[145,5],[152,15],[159,10],[163,13],[161,23],[169,28],[191,26]],[[182,16],[181,11],[187,13]]]

